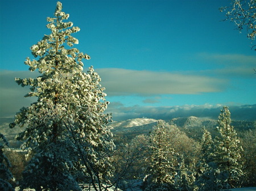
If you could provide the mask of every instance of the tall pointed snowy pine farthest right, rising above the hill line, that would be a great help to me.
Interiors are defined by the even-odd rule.
[[[236,130],[231,124],[230,112],[228,107],[223,107],[218,116],[218,135],[214,141],[214,162],[217,164],[221,173],[228,176],[227,182],[223,181],[224,189],[236,188],[241,185],[242,147],[239,146]]]

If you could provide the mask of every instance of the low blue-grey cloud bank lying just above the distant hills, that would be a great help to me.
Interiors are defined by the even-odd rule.
[[[224,105],[176,105],[167,107],[142,107],[134,105],[133,107],[125,107],[121,103],[111,103],[106,112],[113,114],[114,121],[127,120],[129,118],[154,118],[156,120],[171,120],[175,117],[205,117],[218,119],[220,110]],[[228,106],[228,105],[227,105]],[[256,104],[230,106],[232,120],[256,120]]]

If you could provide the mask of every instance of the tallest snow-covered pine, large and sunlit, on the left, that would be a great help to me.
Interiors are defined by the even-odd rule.
[[[104,114],[109,102],[93,67],[83,72],[82,59],[90,57],[72,48],[79,43],[72,33],[80,28],[65,21],[68,18],[57,2],[54,17],[47,18],[51,34],[31,46],[37,59],[27,58],[25,64],[30,71],[38,70],[39,77],[15,80],[30,86],[25,97],[36,96],[37,101],[20,109],[10,128],[26,126],[17,137],[32,155],[23,187],[80,190],[78,181],[86,180],[102,190],[113,169],[107,152],[114,143],[106,128],[111,115]]]

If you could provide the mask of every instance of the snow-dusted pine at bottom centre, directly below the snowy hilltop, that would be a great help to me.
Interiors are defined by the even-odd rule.
[[[175,189],[176,155],[170,145],[170,125],[159,120],[150,134],[151,156],[148,174],[144,178],[145,190],[173,190]]]

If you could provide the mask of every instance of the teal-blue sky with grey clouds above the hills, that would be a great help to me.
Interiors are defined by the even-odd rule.
[[[53,16],[56,2],[0,1],[0,117],[12,117],[32,101],[23,98],[27,90],[14,77],[36,75],[24,60],[32,58],[30,46],[49,34],[46,18]],[[100,74],[114,120],[217,117],[222,105],[236,108],[237,116],[238,108],[249,108],[256,119],[253,44],[246,31],[221,22],[225,15],[218,11],[230,1],[61,3],[81,28],[76,48],[91,57],[85,70],[93,65]]]

